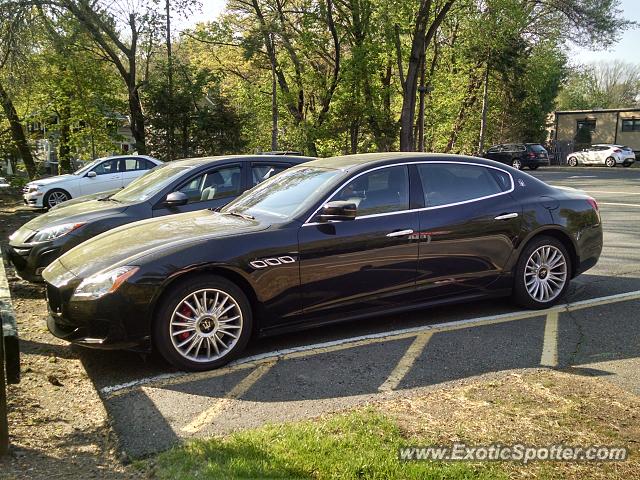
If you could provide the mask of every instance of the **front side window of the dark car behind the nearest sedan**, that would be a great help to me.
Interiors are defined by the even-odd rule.
[[[178,191],[189,197],[189,203],[233,197],[240,193],[240,167],[215,168],[189,180]]]

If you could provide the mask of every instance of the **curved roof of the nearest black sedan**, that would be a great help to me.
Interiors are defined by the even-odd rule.
[[[392,164],[397,161],[401,162],[470,162],[482,165],[495,166],[503,164],[487,160],[479,157],[471,157],[467,155],[454,155],[447,153],[420,153],[420,152],[382,152],[382,153],[360,153],[356,155],[342,155],[338,157],[328,157],[313,160],[307,163],[307,166],[328,168],[335,170],[360,170],[376,166]]]

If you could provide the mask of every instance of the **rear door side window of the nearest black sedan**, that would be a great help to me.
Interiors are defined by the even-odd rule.
[[[505,191],[490,168],[455,163],[425,163],[418,165],[425,205],[437,207],[483,198]],[[504,182],[511,179],[504,178]]]

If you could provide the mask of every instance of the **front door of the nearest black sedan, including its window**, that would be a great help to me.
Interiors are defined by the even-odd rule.
[[[380,310],[413,294],[418,214],[409,209],[405,165],[358,175],[331,200],[357,205],[355,220],[300,228],[299,262],[305,314],[344,316]]]

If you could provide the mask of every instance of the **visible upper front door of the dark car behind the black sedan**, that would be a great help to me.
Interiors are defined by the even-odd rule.
[[[242,193],[242,164],[234,163],[200,171],[173,189],[187,195],[186,205],[167,207],[164,200],[153,209],[153,216],[192,212],[205,208],[219,208]]]

